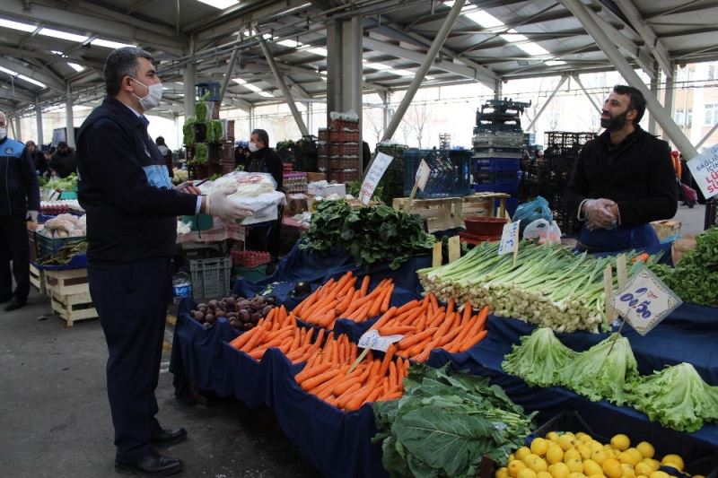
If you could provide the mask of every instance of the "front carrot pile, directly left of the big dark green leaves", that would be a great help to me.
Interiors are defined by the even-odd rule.
[[[349,372],[356,360],[356,344],[344,334],[330,337],[295,379],[303,390],[347,412],[365,403],[395,400],[404,393],[409,369],[409,361],[395,357],[396,350],[391,345],[383,359],[374,359],[369,351]]]

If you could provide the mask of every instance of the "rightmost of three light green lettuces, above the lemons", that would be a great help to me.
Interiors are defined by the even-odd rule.
[[[718,387],[706,384],[689,363],[679,363],[626,386],[637,410],[673,430],[696,431],[718,421]]]

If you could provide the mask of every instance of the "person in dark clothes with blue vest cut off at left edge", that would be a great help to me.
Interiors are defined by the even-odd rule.
[[[30,248],[26,222],[36,225],[38,212],[38,175],[31,153],[24,144],[7,137],[7,117],[0,111],[0,303],[7,303],[7,312],[20,309],[28,300]]]

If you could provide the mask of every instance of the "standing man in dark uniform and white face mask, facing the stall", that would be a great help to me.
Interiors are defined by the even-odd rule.
[[[154,395],[177,216],[204,212],[234,220],[250,213],[227,198],[232,190],[198,196],[191,182],[171,186],[144,117],[162,99],[153,56],[140,48],[118,48],[105,60],[103,74],[107,97],[77,135],[78,198],[87,212],[90,295],[109,350],[115,470],[168,476],[180,473],[182,462],[155,448],[187,438],[182,428],[162,429]]]

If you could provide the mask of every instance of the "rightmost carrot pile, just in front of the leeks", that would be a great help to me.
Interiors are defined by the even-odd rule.
[[[429,353],[438,348],[464,352],[486,336],[488,307],[473,315],[468,301],[461,312],[455,306],[451,299],[445,308],[439,307],[436,296],[429,292],[424,300],[412,300],[387,310],[372,328],[380,335],[404,335],[396,344],[397,354],[407,359],[426,361]]]

